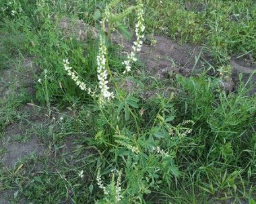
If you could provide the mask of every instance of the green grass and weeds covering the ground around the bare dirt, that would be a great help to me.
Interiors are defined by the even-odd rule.
[[[13,166],[0,164],[0,201],[117,203],[120,185],[118,203],[255,203],[256,97],[242,82],[226,93],[222,79],[204,72],[160,80],[143,75],[146,67],[140,61],[135,68],[143,77],[134,71],[128,78],[136,88],[119,87],[117,98],[102,108],[67,76],[63,59],[71,59],[77,74],[97,85],[99,42],[90,28],[99,28],[108,1],[44,1],[42,7],[38,3],[43,1],[8,2],[0,3],[7,7],[0,11],[0,72],[11,77],[11,84],[6,75],[0,83],[0,159],[15,142],[29,144],[33,138],[44,150]],[[216,70],[228,67],[233,54],[255,50],[253,1],[143,3],[153,44],[155,34],[203,44]],[[115,12],[131,4],[123,1]],[[11,15],[12,10],[17,13]],[[65,33],[70,24],[61,27],[63,19],[84,30],[77,21],[83,19],[86,40],[79,38],[80,31]],[[121,23],[133,30],[134,20],[132,12]],[[113,81],[122,85],[121,47],[110,41],[107,46]],[[27,58],[38,72],[23,63]],[[13,67],[18,67],[15,72]],[[27,74],[31,79],[24,78]],[[27,85],[32,82],[35,93]],[[166,85],[173,93],[145,97]],[[12,138],[8,127],[16,123],[21,134]]]

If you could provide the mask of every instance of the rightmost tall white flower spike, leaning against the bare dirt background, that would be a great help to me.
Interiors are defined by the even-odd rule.
[[[123,61],[122,64],[125,64],[125,71],[124,74],[129,72],[131,70],[131,63],[136,62],[137,58],[135,58],[135,54],[141,50],[142,44],[143,44],[143,38],[145,37],[143,35],[143,32],[145,30],[145,25],[143,24],[143,5],[140,0],[138,0],[138,10],[137,10],[137,23],[135,25],[135,34],[136,34],[136,40],[133,42],[133,51],[127,55],[127,60]]]

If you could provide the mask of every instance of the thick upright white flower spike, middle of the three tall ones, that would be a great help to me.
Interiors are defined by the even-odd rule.
[[[100,36],[100,48],[98,51],[97,56],[97,72],[98,72],[98,80],[99,80],[99,87],[102,93],[102,97],[105,99],[110,100],[114,98],[114,93],[108,91],[108,71],[106,70],[106,44],[102,36]]]

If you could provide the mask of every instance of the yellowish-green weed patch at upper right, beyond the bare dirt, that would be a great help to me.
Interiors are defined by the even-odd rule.
[[[255,50],[256,5],[253,1],[161,2],[147,1],[149,34],[203,43],[220,64],[228,62],[231,54]]]

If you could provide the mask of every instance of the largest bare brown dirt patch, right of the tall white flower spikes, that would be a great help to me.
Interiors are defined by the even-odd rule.
[[[164,36],[154,36],[155,46],[148,44],[141,49],[141,59],[146,62],[146,67],[153,76],[166,77],[168,72],[190,76],[192,72],[203,68],[203,60],[196,64],[195,58],[199,56],[199,46],[190,44],[179,45]]]

